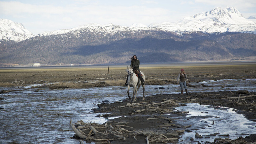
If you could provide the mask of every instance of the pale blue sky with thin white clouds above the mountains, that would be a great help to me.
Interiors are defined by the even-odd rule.
[[[256,0],[0,0],[0,19],[22,23],[33,34],[91,23],[131,26],[177,22],[216,7],[256,15]]]

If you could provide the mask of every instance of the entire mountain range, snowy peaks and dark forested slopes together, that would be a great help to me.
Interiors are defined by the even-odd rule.
[[[145,63],[255,59],[256,24],[249,18],[217,7],[176,23],[87,24],[37,35],[0,19],[0,63],[115,64],[133,55]]]

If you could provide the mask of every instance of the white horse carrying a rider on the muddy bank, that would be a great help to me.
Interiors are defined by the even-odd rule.
[[[129,95],[129,91],[130,91],[130,87],[133,87],[133,101],[136,101],[136,95],[137,95],[137,91],[141,85],[141,81],[140,79],[136,76],[136,74],[133,72],[132,68],[127,67],[128,72],[128,80],[127,80],[127,93],[128,93],[128,97],[129,99],[131,99],[130,95]],[[140,73],[142,74],[142,78],[145,80],[145,75],[140,71]],[[143,100],[145,100],[145,85],[142,85],[142,90],[143,90]]]

